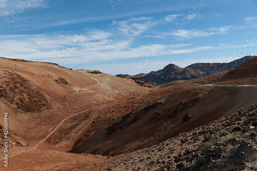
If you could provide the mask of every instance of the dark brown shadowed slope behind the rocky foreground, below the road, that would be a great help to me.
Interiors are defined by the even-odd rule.
[[[257,103],[256,93],[257,87],[183,86],[124,113],[94,135],[78,141],[71,152],[115,156],[148,147]]]

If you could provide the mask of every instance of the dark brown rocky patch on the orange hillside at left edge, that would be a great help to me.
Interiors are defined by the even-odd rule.
[[[30,82],[20,74],[1,69],[0,98],[5,99],[17,109],[39,113],[51,109],[51,104],[41,92],[35,90]]]

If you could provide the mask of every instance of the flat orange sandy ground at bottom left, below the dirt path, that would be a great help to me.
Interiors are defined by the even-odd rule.
[[[9,159],[8,167],[4,170],[84,170],[96,163],[106,160],[101,156],[78,155],[62,151],[34,150],[14,156]],[[2,162],[1,162],[2,163]]]

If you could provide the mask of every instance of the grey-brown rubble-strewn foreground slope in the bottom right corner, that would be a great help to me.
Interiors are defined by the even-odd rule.
[[[257,105],[251,105],[150,148],[110,158],[94,169],[257,170],[256,147]]]

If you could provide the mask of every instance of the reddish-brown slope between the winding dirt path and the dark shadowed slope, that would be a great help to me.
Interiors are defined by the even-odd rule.
[[[90,108],[66,120],[42,146],[51,146],[51,149],[68,151],[89,138],[106,137],[106,127],[123,117],[124,113],[167,96],[171,91],[174,90],[135,91],[133,92],[134,96]],[[98,140],[90,141],[90,145],[94,146],[95,141]]]

